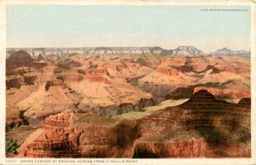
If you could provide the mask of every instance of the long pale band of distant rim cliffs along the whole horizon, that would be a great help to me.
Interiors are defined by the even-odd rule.
[[[175,49],[165,49],[160,47],[87,47],[87,48],[7,48],[7,58],[10,54],[18,51],[25,51],[35,60],[44,60],[49,55],[71,55],[71,54],[160,54],[160,55],[203,55],[201,49],[194,46],[179,46]],[[221,48],[211,55],[250,55],[250,51],[231,50]]]

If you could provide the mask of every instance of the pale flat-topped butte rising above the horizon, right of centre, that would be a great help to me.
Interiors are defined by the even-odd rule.
[[[201,49],[195,48],[194,46],[179,46],[173,50],[172,54],[200,55],[200,54],[205,54],[205,53]]]

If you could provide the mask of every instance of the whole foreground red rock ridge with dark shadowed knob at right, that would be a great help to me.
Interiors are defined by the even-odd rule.
[[[137,120],[63,111],[20,146],[20,157],[250,156],[250,109],[205,90],[183,105]],[[236,153],[233,151],[236,148]]]

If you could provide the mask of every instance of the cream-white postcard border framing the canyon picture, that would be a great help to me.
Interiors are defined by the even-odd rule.
[[[75,159],[19,159],[19,158],[5,158],[5,57],[6,57],[6,27],[5,27],[5,7],[9,4],[40,4],[40,5],[248,5],[251,7],[251,77],[252,77],[252,157],[251,158],[192,158],[192,159],[183,159],[183,158],[168,158],[168,159],[137,159],[137,162],[124,163],[122,161],[131,160],[131,159],[79,159],[79,160],[116,160],[119,162],[112,163],[85,163],[85,164],[183,164],[183,165],[191,165],[191,164],[200,164],[200,165],[210,165],[210,164],[219,164],[219,165],[256,165],[256,103],[255,103],[255,94],[256,91],[256,79],[253,73],[256,71],[256,51],[255,51],[255,39],[256,39],[256,1],[254,0],[233,0],[233,1],[194,1],[194,0],[163,0],[163,1],[138,1],[138,0],[120,0],[120,1],[101,1],[101,0],[0,0],[0,109],[2,111],[0,115],[0,164],[67,164],[67,163],[58,163],[58,162],[50,162],[50,163],[35,163],[35,161],[47,161],[47,160],[75,160]],[[32,160],[34,163],[21,162],[21,160]],[[76,159],[78,160],[78,159]],[[14,163],[9,163],[8,161],[15,161]],[[80,164],[80,163],[70,163],[70,164]]]

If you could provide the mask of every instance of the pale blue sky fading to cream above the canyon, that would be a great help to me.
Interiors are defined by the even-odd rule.
[[[241,9],[201,11],[202,9]],[[247,6],[10,5],[7,46],[250,49]]]

